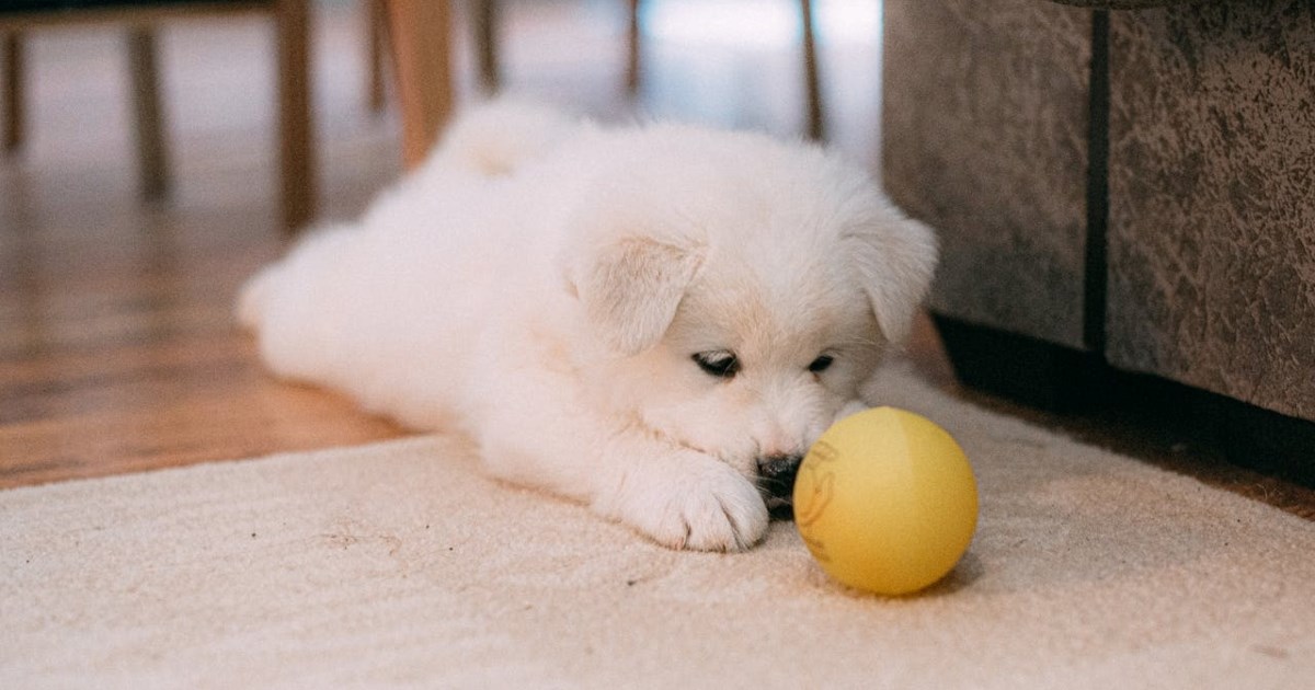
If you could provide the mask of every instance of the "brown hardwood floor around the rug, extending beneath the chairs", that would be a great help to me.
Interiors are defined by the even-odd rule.
[[[644,84],[622,89],[625,3],[505,3],[509,88],[602,120],[638,113],[797,135],[803,125],[792,0],[776,24],[693,32],[697,3],[654,4]],[[831,141],[874,167],[876,4],[826,8],[822,64]],[[660,12],[660,13],[659,13]],[[396,179],[398,127],[367,108],[364,26],[350,0],[322,3],[316,117],[323,218],[347,218]],[[775,29],[773,29],[775,26]],[[389,439],[406,431],[333,393],[281,384],[234,327],[233,296],[284,248],[274,193],[274,46],[256,18],[180,22],[162,37],[174,191],[138,193],[124,37],[108,28],[28,37],[24,147],[0,159],[0,488]],[[462,95],[477,97],[462,53]],[[911,355],[959,392],[926,322]],[[977,397],[1178,469],[1164,444],[1101,422]],[[1181,453],[1178,453],[1181,455]],[[1310,492],[1207,464],[1207,480],[1315,515]]]

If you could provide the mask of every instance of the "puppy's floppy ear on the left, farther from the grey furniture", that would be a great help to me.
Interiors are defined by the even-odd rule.
[[[611,346],[636,355],[667,333],[701,263],[697,248],[630,237],[586,258],[572,284]]]

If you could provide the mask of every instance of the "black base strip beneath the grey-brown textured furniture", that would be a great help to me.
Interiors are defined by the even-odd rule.
[[[1045,413],[1134,421],[1190,438],[1237,467],[1315,489],[1315,422],[1123,372],[1090,352],[940,314],[932,319],[965,386]]]

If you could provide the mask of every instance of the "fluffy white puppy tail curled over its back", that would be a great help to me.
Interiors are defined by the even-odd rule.
[[[509,175],[551,151],[576,126],[576,120],[554,108],[501,97],[452,122],[430,166],[458,167],[490,177]]]

